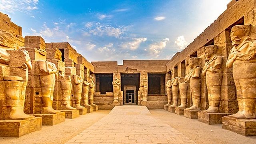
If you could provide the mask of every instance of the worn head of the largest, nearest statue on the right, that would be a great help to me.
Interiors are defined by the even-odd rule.
[[[232,45],[239,44],[243,36],[249,36],[251,27],[250,24],[233,26],[230,33]]]

